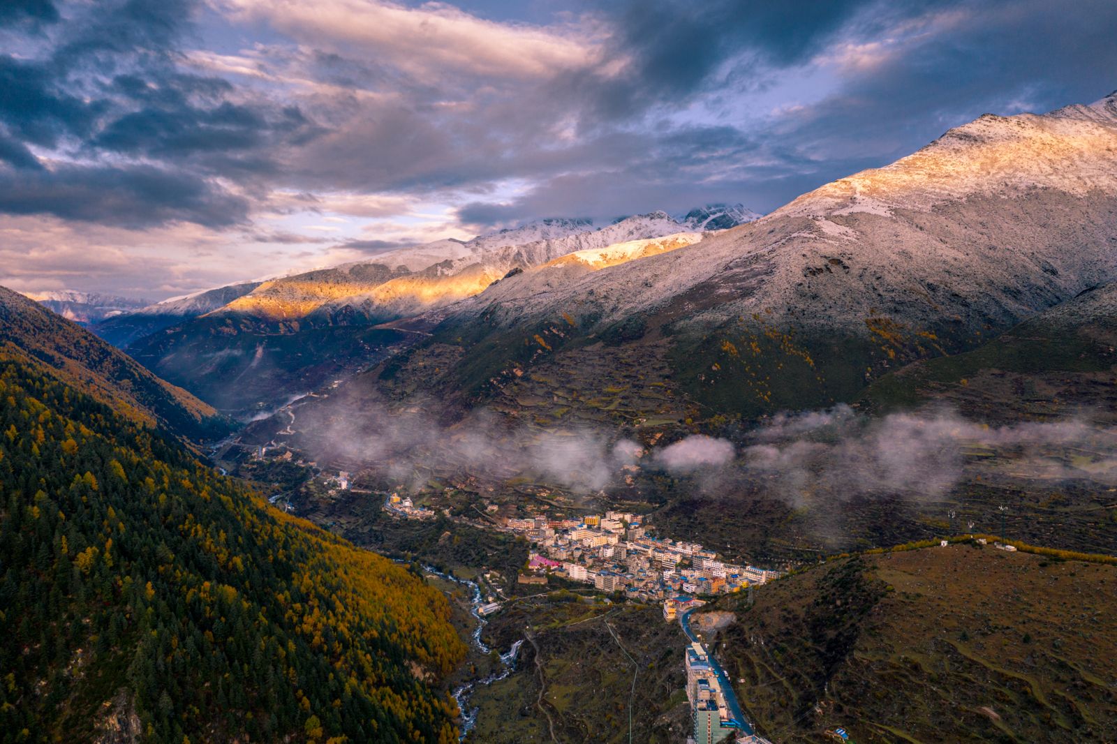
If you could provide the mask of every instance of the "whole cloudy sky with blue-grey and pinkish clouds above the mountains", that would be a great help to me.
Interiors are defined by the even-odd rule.
[[[1117,87],[1113,0],[3,0],[0,284],[161,299],[540,217],[768,211]]]

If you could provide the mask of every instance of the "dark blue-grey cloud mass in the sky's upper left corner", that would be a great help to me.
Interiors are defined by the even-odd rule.
[[[0,160],[39,171],[0,172],[0,211],[130,227],[246,219],[246,198],[216,179],[266,190],[280,171],[275,153],[322,130],[298,106],[183,73],[180,44],[195,9],[193,0],[64,8],[40,54],[0,56]],[[27,145],[51,151],[54,164],[45,169]]]

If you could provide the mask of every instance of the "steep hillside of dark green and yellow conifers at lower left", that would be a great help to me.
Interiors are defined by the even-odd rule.
[[[448,618],[0,351],[0,741],[454,742]]]

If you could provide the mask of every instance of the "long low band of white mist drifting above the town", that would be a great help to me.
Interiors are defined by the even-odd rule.
[[[322,455],[360,462],[414,490],[431,476],[466,475],[585,494],[639,488],[641,476],[667,475],[699,497],[732,498],[744,486],[802,507],[934,500],[970,477],[1117,485],[1117,429],[1086,414],[994,427],[949,409],[870,417],[838,406],[777,414],[732,437],[660,439],[605,428],[543,429],[487,410],[447,423],[422,407],[374,404],[330,419],[300,418],[297,428],[317,432]]]

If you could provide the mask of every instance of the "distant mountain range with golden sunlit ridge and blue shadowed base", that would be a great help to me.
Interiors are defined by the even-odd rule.
[[[677,248],[755,218],[739,204],[712,204],[678,218],[657,211],[601,228],[582,219],[544,219],[472,240],[440,240],[231,285],[120,315],[93,330],[221,410],[252,417],[375,364],[413,338],[378,325],[437,312],[562,257],[612,251],[608,261],[620,264],[667,245],[637,249],[633,241],[675,236]]]

